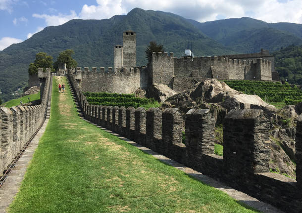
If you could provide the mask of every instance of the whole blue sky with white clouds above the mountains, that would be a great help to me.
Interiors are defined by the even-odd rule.
[[[172,12],[199,22],[248,16],[302,24],[302,0],[0,0],[0,50],[47,26],[71,19],[105,19],[133,8]]]

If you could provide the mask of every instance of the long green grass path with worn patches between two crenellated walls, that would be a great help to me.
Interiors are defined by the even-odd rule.
[[[10,213],[256,212],[81,120],[63,82]]]

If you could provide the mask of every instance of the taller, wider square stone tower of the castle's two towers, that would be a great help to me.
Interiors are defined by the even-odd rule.
[[[136,67],[136,33],[123,32],[123,67]]]

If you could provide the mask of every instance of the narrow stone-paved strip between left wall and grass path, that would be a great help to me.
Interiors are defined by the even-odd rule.
[[[7,207],[12,203],[14,196],[18,193],[21,181],[24,178],[27,167],[33,158],[34,152],[38,147],[39,140],[45,132],[50,118],[51,94],[52,94],[52,77],[50,78],[50,89],[47,99],[47,109],[45,111],[45,121],[38,129],[37,133],[27,142],[22,152],[12,162],[10,173],[6,176],[5,182],[0,188],[0,213],[5,213]]]

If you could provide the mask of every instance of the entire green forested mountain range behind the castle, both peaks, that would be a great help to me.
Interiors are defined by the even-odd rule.
[[[80,67],[112,67],[113,47],[122,44],[126,30],[137,32],[138,66],[147,64],[145,50],[150,41],[163,44],[165,51],[177,57],[187,48],[196,56],[210,56],[302,44],[301,24],[272,24],[248,17],[200,23],[173,13],[135,8],[110,19],[74,19],[50,26],[0,51],[0,98],[11,99],[11,93],[26,85],[28,65],[38,52],[47,52],[55,61],[59,52],[73,49]]]

